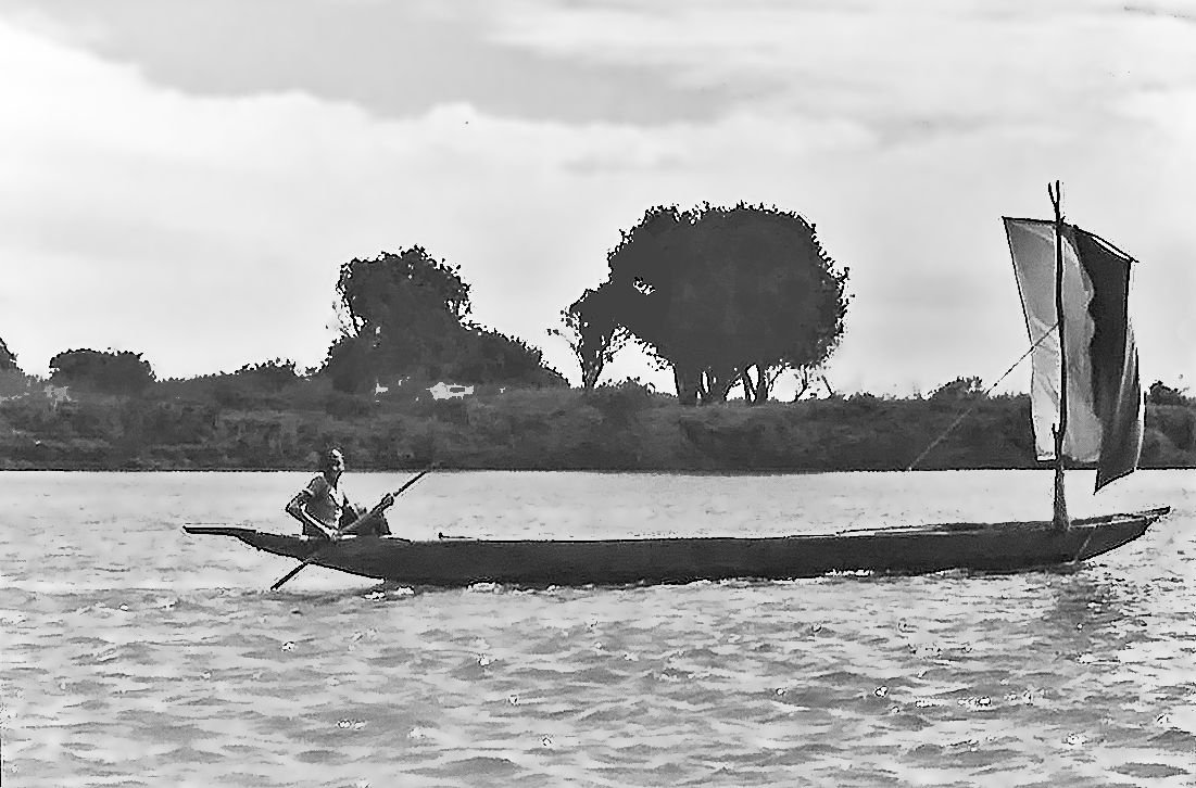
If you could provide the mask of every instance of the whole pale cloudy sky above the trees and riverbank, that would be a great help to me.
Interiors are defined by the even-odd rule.
[[[620,231],[745,201],[850,269],[830,385],[926,393],[1029,347],[1001,216],[1049,218],[1060,179],[1068,220],[1140,261],[1146,383],[1188,386],[1191,8],[0,0],[0,337],[36,374],[75,348],[159,378],[316,366],[340,265],[417,244],[576,384],[547,329]],[[671,390],[635,349],[624,377]]]

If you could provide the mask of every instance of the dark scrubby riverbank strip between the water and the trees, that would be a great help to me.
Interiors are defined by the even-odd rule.
[[[342,446],[359,470],[818,472],[1031,469],[1029,397],[847,398],[684,408],[635,383],[349,396],[155,384],[141,397],[30,395],[0,403],[0,468],[309,470]],[[1196,468],[1196,407],[1148,404],[1143,468]]]

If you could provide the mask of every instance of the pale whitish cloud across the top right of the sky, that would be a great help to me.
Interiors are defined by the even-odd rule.
[[[1192,84],[1191,32],[1116,4],[527,0],[495,37],[555,57],[765,84],[753,106],[913,127],[1091,123],[1121,97]]]

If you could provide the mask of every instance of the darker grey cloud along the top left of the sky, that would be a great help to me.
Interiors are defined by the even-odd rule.
[[[329,0],[37,0],[60,38],[193,96],[303,92],[380,117],[463,103],[505,117],[660,124],[720,114],[725,86],[675,84],[639,65],[593,65],[487,36],[490,4]],[[31,12],[28,12],[31,13]],[[43,24],[50,29],[50,24]]]

